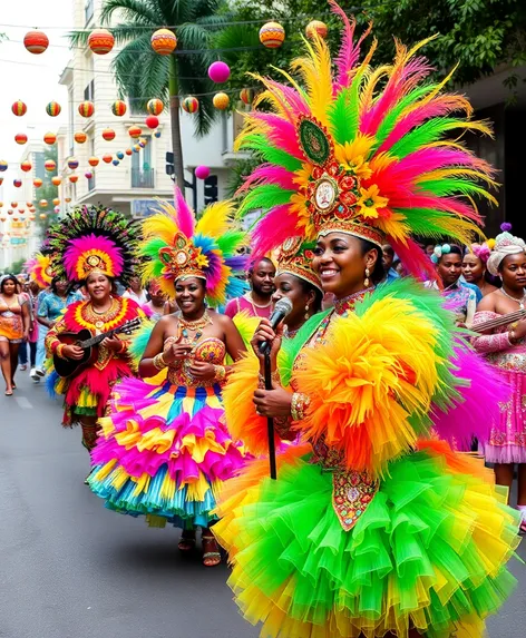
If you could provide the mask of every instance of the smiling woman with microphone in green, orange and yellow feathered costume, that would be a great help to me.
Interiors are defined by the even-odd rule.
[[[314,36],[293,62],[305,88],[288,75],[286,85],[263,79],[273,112],[246,116],[241,147],[269,161],[242,204],[265,208],[256,254],[299,230],[315,238],[313,267],[337,305],[282,343],[261,320],[253,347],[271,342],[274,389],[260,387],[254,355],[224,392],[228,428],[251,451],[264,452],[269,416],[313,451],[291,446],[277,480],[230,481],[214,533],[235,600],[265,638],[481,636],[514,585],[505,563],[518,516],[481,461],[422,436],[435,406],[451,411],[451,426],[457,405],[481,419],[498,384],[468,383],[475,355],[436,292],[409,277],[374,285],[384,243],[420,274],[432,264],[412,233],[460,241],[476,229],[457,194],[484,190],[477,178],[490,168],[444,134],[484,127],[445,117],[469,107],[421,84],[419,47],[398,43],[394,63],[378,70],[371,52],[360,65],[353,26],[332,6],[344,21],[337,76]]]

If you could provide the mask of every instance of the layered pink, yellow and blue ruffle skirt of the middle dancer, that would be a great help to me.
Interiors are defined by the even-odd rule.
[[[244,464],[223,422],[221,387],[153,387],[128,379],[115,387],[91,452],[91,490],[107,508],[150,524],[208,527],[222,483]]]

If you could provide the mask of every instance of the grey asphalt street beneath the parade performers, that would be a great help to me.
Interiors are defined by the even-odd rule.
[[[227,567],[181,556],[173,528],[106,510],[82,483],[80,431],[62,430],[42,385],[17,382],[0,394],[0,638],[256,638]],[[490,638],[526,635],[526,567],[512,569],[519,582]]]

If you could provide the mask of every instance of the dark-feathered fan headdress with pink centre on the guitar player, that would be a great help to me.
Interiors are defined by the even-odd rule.
[[[127,285],[135,274],[138,233],[137,224],[117,210],[75,208],[48,230],[56,276],[80,283],[100,272]]]

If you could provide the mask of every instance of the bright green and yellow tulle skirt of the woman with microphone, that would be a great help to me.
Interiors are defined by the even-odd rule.
[[[410,628],[480,638],[514,587],[505,563],[519,518],[491,472],[471,459],[474,472],[454,465],[432,450],[394,462],[350,531],[334,513],[332,474],[305,458],[281,463],[277,481],[261,478],[261,462],[228,481],[214,532],[245,618],[272,638]]]

